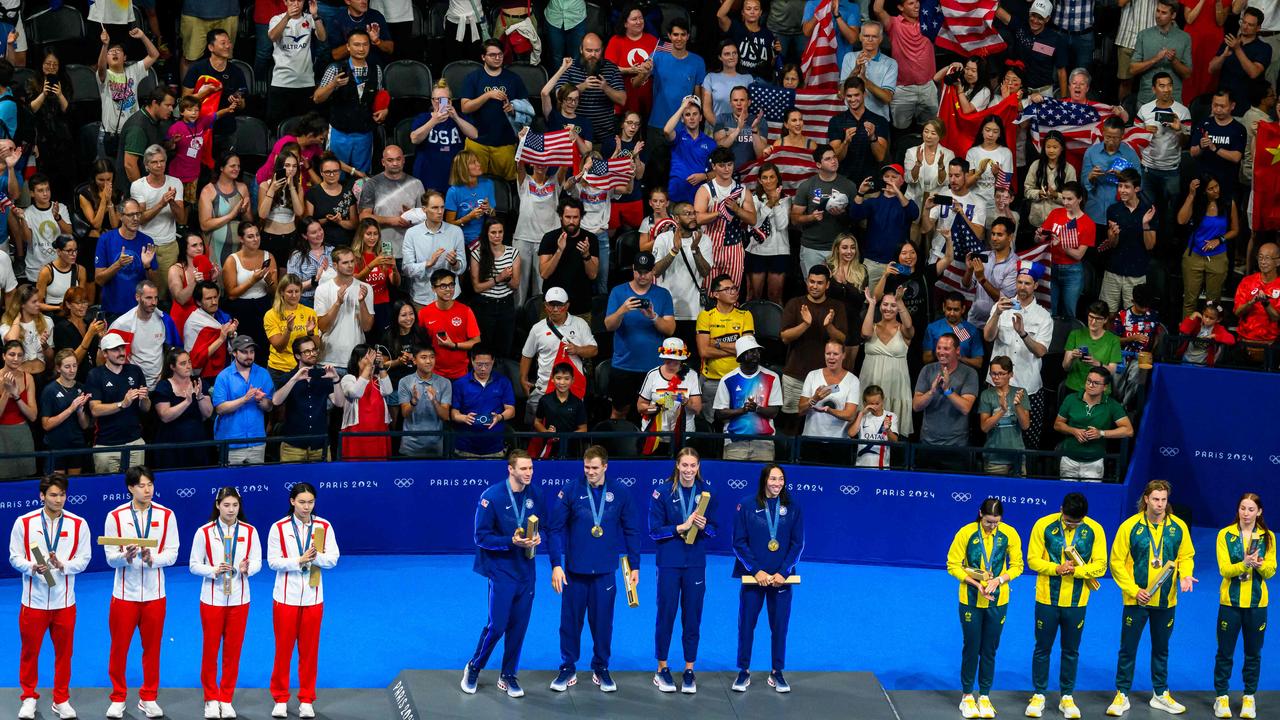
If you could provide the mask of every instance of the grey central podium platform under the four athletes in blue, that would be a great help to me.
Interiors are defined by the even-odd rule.
[[[879,682],[870,673],[788,673],[791,693],[781,694],[767,683],[768,673],[753,673],[745,693],[730,689],[733,675],[699,673],[698,693],[660,693],[652,673],[614,673],[616,693],[603,693],[591,683],[590,670],[580,670],[577,684],[563,693],[548,689],[554,673],[522,673],[525,697],[508,698],[498,691],[498,674],[480,675],[476,694],[458,689],[462,671],[406,670],[392,684],[393,705],[399,688],[401,710],[412,708],[410,717],[431,719],[521,719],[561,720],[566,717],[609,717],[632,720],[653,717],[698,717],[698,720],[754,720],[799,717],[851,717],[859,720],[899,720]],[[855,710],[856,708],[856,710]]]

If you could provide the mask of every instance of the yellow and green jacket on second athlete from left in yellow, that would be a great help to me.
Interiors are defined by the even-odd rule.
[[[1092,518],[1074,530],[1061,524],[1061,512],[1046,515],[1032,528],[1030,546],[1027,550],[1027,565],[1036,573],[1036,602],[1059,607],[1084,607],[1089,602],[1088,578],[1101,578],[1107,571],[1107,536]],[[1062,550],[1068,543],[1075,546],[1084,565],[1070,575],[1059,575],[1057,566],[1062,564]]]

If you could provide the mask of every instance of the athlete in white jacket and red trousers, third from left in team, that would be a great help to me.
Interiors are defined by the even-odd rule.
[[[239,653],[248,621],[248,579],[262,569],[257,529],[244,521],[241,496],[233,487],[218,491],[214,512],[191,542],[191,574],[200,583],[200,624],[205,629],[200,684],[205,717],[236,717],[232,698],[239,676]],[[223,682],[218,683],[218,648],[223,650]]]

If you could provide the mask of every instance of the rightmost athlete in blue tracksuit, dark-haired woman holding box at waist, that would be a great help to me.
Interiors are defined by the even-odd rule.
[[[758,584],[744,584],[737,605],[737,679],[733,691],[745,692],[751,684],[751,641],[760,606],[769,609],[769,632],[773,637],[773,671],[769,685],[780,693],[791,692],[782,676],[787,655],[787,621],[791,619],[791,585],[783,584],[794,575],[804,552],[804,515],[787,496],[787,479],[782,468],[769,464],[760,470],[755,495],[737,503],[733,516],[733,578],[754,575]]]

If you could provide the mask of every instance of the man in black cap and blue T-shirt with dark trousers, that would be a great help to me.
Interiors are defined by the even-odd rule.
[[[654,284],[654,265],[652,252],[636,254],[631,282],[614,287],[605,306],[604,329],[613,333],[609,397],[614,419],[631,411],[658,347],[676,332],[676,306],[667,288]]]

